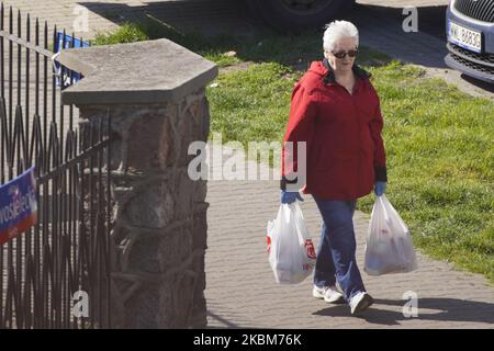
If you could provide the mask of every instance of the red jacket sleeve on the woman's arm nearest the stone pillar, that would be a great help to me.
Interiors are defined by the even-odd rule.
[[[316,106],[314,97],[302,84],[297,83],[293,89],[290,117],[283,137],[280,182],[282,190],[287,189],[287,183],[293,184],[297,182],[297,174],[293,174],[293,172],[299,170],[297,141],[306,141],[306,156],[308,158],[314,133]],[[287,141],[291,141],[293,147],[288,147],[285,145]]]

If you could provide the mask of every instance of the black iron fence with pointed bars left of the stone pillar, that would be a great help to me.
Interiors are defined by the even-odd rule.
[[[38,222],[0,247],[0,328],[108,328],[110,116],[77,123],[77,107],[60,100],[76,73],[55,69],[49,49],[57,29],[4,12],[0,183],[35,166]]]

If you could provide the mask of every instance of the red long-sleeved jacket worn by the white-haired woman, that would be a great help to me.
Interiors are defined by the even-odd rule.
[[[353,72],[353,94],[335,81],[327,60],[312,63],[295,84],[283,138],[281,189],[291,182],[289,170],[297,171],[296,141],[306,141],[305,194],[349,201],[369,194],[375,181],[386,181],[379,97],[370,73],[358,66]],[[287,160],[284,141],[294,143],[293,163]]]

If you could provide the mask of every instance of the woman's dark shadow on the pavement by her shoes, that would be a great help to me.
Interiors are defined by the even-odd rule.
[[[357,318],[375,325],[393,326],[398,321],[409,320],[403,315],[402,308],[406,301],[401,299],[375,299],[368,310]],[[396,306],[397,310],[381,309],[380,306]],[[465,301],[457,298],[419,298],[418,317],[412,319],[436,320],[436,321],[465,321],[485,322],[494,326],[494,304]],[[420,313],[422,310],[427,310]],[[349,307],[346,305],[332,306],[313,313],[317,316],[346,317],[349,315]]]

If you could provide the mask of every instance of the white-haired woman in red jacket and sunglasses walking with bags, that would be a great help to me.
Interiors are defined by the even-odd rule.
[[[370,73],[355,64],[357,27],[335,21],[327,25],[323,42],[324,59],[312,63],[293,90],[283,143],[281,202],[303,201],[300,189],[293,186],[300,183],[297,157],[304,156],[297,155],[296,143],[305,141],[302,191],[313,195],[323,217],[313,296],[327,303],[346,301],[351,314],[358,314],[373,301],[357,267],[352,216],[358,197],[372,190],[381,196],[385,190],[383,121]]]

